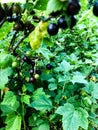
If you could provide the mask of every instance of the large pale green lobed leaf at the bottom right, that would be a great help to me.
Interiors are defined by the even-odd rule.
[[[83,108],[75,109],[70,103],[66,103],[57,109],[56,113],[63,116],[63,129],[64,130],[78,130],[79,126],[86,129],[88,128],[88,113]]]

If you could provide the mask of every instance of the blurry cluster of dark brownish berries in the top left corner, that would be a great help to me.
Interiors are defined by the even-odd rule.
[[[22,8],[18,3],[12,4],[10,7],[5,5],[3,8],[0,5],[0,22],[4,19],[8,22],[15,22],[13,30],[15,31],[27,31],[33,30],[34,25],[30,21],[22,22]]]

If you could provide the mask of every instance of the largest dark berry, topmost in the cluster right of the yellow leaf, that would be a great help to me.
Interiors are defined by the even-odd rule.
[[[69,15],[76,15],[80,11],[80,3],[78,0],[72,0],[67,7],[67,14]]]

